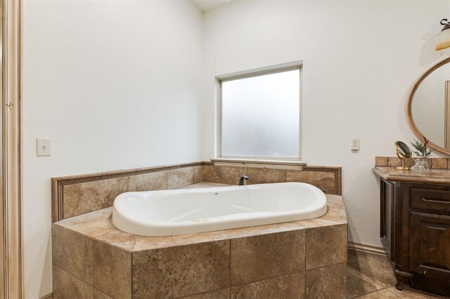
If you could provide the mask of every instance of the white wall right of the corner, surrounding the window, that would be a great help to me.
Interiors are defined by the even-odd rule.
[[[449,1],[236,1],[205,14],[203,157],[214,157],[214,76],[303,60],[303,153],[342,166],[349,239],[380,245],[376,155],[413,140],[414,82],[435,51]],[[351,138],[361,150],[350,151]]]

